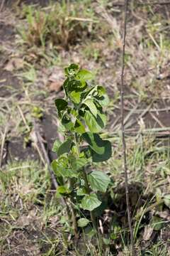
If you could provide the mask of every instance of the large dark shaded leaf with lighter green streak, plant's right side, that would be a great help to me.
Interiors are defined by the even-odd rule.
[[[98,134],[91,132],[85,132],[82,137],[89,144],[94,162],[106,161],[111,157],[111,142],[101,139]]]

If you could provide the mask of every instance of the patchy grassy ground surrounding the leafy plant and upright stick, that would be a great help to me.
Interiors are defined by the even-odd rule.
[[[74,18],[81,24],[74,33],[68,32],[71,21],[68,26],[67,21],[61,26],[59,9],[57,26],[62,30],[57,38],[52,34],[46,36],[43,46],[37,38],[38,33],[44,33],[40,26],[43,20],[34,22],[31,28],[26,16],[30,4],[35,4],[33,10],[43,6],[42,11],[47,15],[52,4],[7,1],[4,5],[0,18],[0,254],[3,256],[90,255],[89,251],[97,255],[91,243],[89,251],[81,248],[78,252],[72,247],[67,221],[60,218],[64,210],[55,198],[40,146],[33,136],[37,122],[49,158],[54,159],[52,143],[60,129],[54,100],[63,96],[63,68],[72,62],[93,70],[95,82],[105,86],[111,98],[103,137],[111,139],[113,157],[94,168],[107,171],[114,181],[111,187],[114,201],[108,215],[115,214],[118,230],[111,239],[110,255],[129,255],[120,139],[123,5],[122,1],[103,3],[86,0],[72,4],[76,10]],[[138,254],[169,255],[170,12],[169,5],[148,3],[132,1],[128,12],[125,129],[132,184],[130,206]],[[103,215],[102,221],[106,218],[109,216]]]

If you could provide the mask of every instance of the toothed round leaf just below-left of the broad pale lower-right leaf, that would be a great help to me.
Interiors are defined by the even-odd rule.
[[[101,201],[98,200],[96,194],[94,193],[84,196],[81,201],[81,208],[83,208],[84,210],[94,210],[100,205]]]

